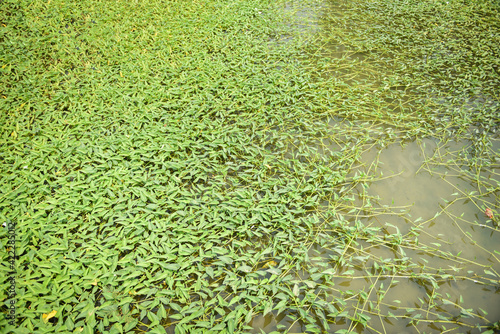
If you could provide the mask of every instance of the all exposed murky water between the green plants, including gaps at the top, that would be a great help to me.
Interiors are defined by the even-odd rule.
[[[342,15],[341,7],[328,1],[316,1],[310,7],[288,3],[283,10],[290,16],[291,26],[310,35],[328,30],[329,16]],[[282,42],[287,43],[290,38],[284,37]],[[378,78],[369,75],[371,63],[366,55],[335,44],[325,46],[325,55],[333,62],[354,61],[357,71],[354,73],[344,68],[321,75],[336,76],[351,85],[361,81],[375,86],[380,83]],[[368,70],[360,70],[363,66]],[[326,122],[332,131],[343,126],[338,119]],[[388,131],[392,130],[382,127],[380,134]],[[359,305],[357,298],[350,299],[350,294],[369,292],[368,302],[375,306],[369,306],[368,302],[366,307],[363,305],[365,314],[371,317],[368,327],[356,327],[349,320],[339,319],[331,324],[328,333],[348,328],[358,333],[477,333],[476,323],[485,325],[486,319],[490,323],[500,319],[498,277],[485,274],[485,270],[500,272],[499,234],[484,214],[486,207],[500,206],[500,194],[491,191],[498,189],[500,161],[493,161],[488,170],[471,168],[464,157],[470,154],[473,144],[466,140],[454,141],[453,138],[445,142],[426,138],[393,142],[385,147],[366,145],[351,177],[368,175],[374,176],[376,181],[355,184],[349,191],[349,196],[354,194],[353,206],[358,210],[329,208],[328,203],[324,204],[324,209],[339,210],[339,214],[352,224],[380,227],[386,235],[399,234],[405,240],[412,240],[413,244],[394,248],[383,243],[373,246],[360,241],[364,251],[349,256],[368,255],[368,260],[359,262],[354,268],[335,267],[339,273],[347,269],[354,269],[354,273],[352,277],[336,278],[332,295],[344,296],[347,309],[352,311],[359,310]],[[320,154],[329,155],[341,150],[341,145],[342,140],[327,140],[317,148]],[[498,154],[500,140],[494,140],[490,150]],[[417,233],[412,234],[412,231]],[[308,255],[328,259],[331,250],[315,245]],[[406,274],[398,273],[392,277],[366,274],[373,270],[375,261],[390,263],[402,258],[410,268]],[[412,277],[412,273],[422,272],[431,276],[443,273],[452,276],[438,279],[436,289],[430,281]],[[381,294],[382,299],[377,297]],[[447,318],[463,316],[464,308],[485,318],[460,318],[470,326],[436,321],[440,314]],[[408,309],[420,310],[422,319],[429,321],[410,324],[406,316]],[[395,317],[379,314],[394,314]],[[430,321],[432,319],[434,321]],[[254,328],[253,333],[283,332],[284,329],[287,333],[306,332],[305,326],[300,321],[291,321],[286,312],[257,316],[250,326]]]

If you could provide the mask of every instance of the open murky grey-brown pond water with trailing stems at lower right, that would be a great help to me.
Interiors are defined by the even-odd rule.
[[[494,283],[491,285],[480,284],[474,278],[476,272],[478,276],[484,276],[484,270],[500,272],[500,254],[494,252],[498,246],[498,233],[495,233],[495,226],[484,215],[483,209],[498,206],[499,194],[488,193],[485,188],[478,189],[476,180],[459,174],[453,165],[440,164],[446,163],[457,152],[467,152],[470,147],[470,142],[441,143],[434,139],[424,139],[405,143],[403,146],[394,143],[382,149],[372,147],[366,150],[353,173],[376,175],[380,178],[355,187],[357,197],[354,199],[354,206],[362,209],[344,212],[344,217],[353,223],[358,221],[365,226],[382,227],[387,230],[388,235],[396,231],[401,235],[408,235],[412,229],[418,228],[419,247],[395,250],[390,247],[373,247],[366,243],[365,253],[370,255],[370,260],[355,267],[352,278],[337,278],[338,290],[350,290],[353,294],[356,291],[373,291],[369,300],[377,303],[378,291],[384,291],[384,286],[386,289],[390,287],[385,290],[384,295],[384,300],[389,303],[379,304],[381,314],[397,314],[398,310],[421,308],[421,301],[428,303],[429,296],[436,294],[434,297],[437,297],[439,294],[449,301],[449,304],[438,308],[443,314],[460,316],[463,309],[452,303],[461,304],[462,301],[467,309],[482,309],[487,312],[488,319],[500,319],[500,289],[498,283],[494,283],[498,278],[490,275]],[[500,141],[495,141],[491,149],[498,151]],[[458,163],[456,167],[467,169],[467,166]],[[481,172],[478,177],[484,184],[488,184],[498,181],[499,175],[500,165],[497,163],[491,170]],[[463,196],[473,191],[477,192],[474,200]],[[309,257],[328,258],[330,253],[331,251],[315,245],[310,249]],[[406,277],[381,277],[377,282],[374,282],[373,277],[366,276],[366,271],[373,267],[373,259],[383,262],[403,257],[417,271],[420,268],[427,268],[427,272],[445,271],[453,275],[453,278],[438,280],[437,292],[429,282],[413,279],[411,274]],[[395,300],[396,304],[393,302]],[[353,300],[351,307],[359,307],[357,300]],[[433,312],[436,311],[431,311],[431,314]],[[471,319],[471,326],[475,320]],[[360,333],[413,333],[414,329],[409,323],[410,319],[404,317],[398,320],[380,318],[370,323],[371,329],[351,329],[355,328]],[[300,321],[290,321],[285,313],[258,316],[251,326],[255,328],[255,333],[259,333],[261,329],[265,332],[278,330],[279,324],[285,325],[289,329],[288,333],[306,331]],[[328,332],[335,333],[347,327],[350,324],[341,320],[331,325]],[[422,322],[416,328],[422,332],[444,331],[433,322]],[[461,333],[464,330],[476,332],[471,328],[460,327],[453,332]]]

